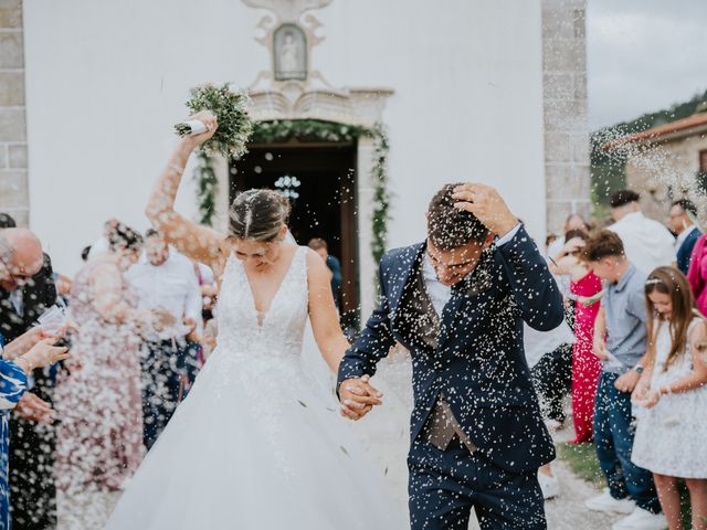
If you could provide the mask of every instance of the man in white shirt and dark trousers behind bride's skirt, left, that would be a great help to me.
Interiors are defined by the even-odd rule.
[[[149,449],[179,404],[188,365],[194,362],[188,343],[192,333],[201,333],[202,298],[192,263],[160,234],[148,231],[145,248],[146,259],[129,269],[128,279],[139,307],[156,315],[141,362],[144,443]]]

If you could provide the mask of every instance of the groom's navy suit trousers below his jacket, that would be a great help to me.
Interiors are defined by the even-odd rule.
[[[466,530],[472,507],[483,530],[545,530],[545,505],[537,473],[511,473],[454,437],[441,451],[424,437],[412,444],[412,530]]]

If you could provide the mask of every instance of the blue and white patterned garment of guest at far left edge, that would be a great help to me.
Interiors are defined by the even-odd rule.
[[[0,338],[0,343],[2,338]],[[0,530],[10,528],[10,488],[8,485],[8,454],[10,433],[8,420],[27,390],[27,375],[18,364],[0,360]]]

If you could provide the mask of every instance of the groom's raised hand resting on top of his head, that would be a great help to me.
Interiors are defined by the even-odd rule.
[[[503,237],[510,232],[518,218],[508,209],[506,201],[495,188],[486,184],[463,184],[452,195],[454,208],[473,213],[488,230]]]

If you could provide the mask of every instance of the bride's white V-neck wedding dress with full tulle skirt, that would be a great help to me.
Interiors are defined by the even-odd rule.
[[[305,247],[262,319],[243,265],[229,261],[219,346],[107,529],[405,528],[400,504],[303,363],[307,298]]]

